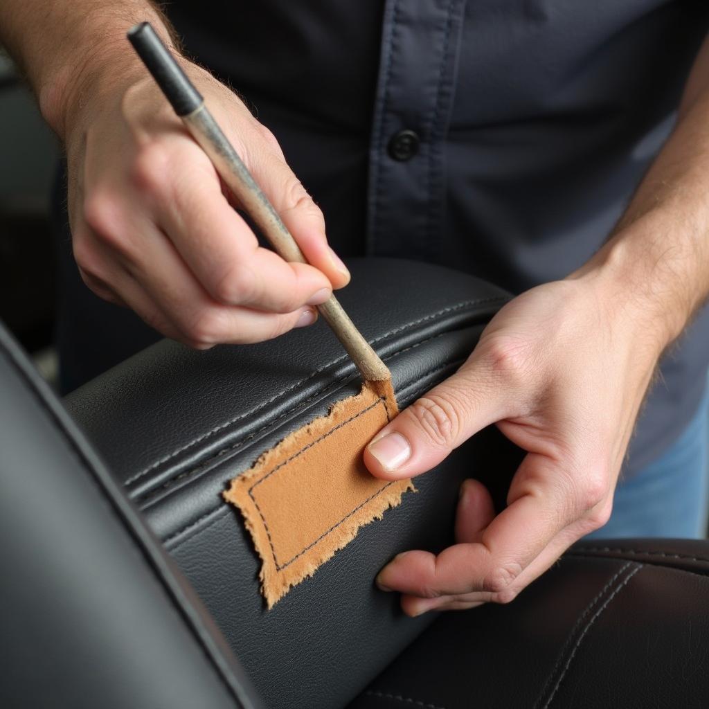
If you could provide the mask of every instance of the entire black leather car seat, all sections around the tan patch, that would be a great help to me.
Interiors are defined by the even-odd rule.
[[[401,406],[454,371],[508,299],[425,264],[352,273],[342,302]],[[680,542],[579,547],[514,603],[442,617],[406,618],[376,590],[394,554],[450,542],[462,479],[483,479],[503,504],[519,452],[494,429],[267,612],[250,539],[220,493],[359,389],[324,325],[201,353],[159,342],[64,408],[6,333],[0,347],[6,705],[644,706],[634,697],[659,685],[682,705],[707,696],[704,542],[691,554]],[[654,604],[671,613],[653,618]],[[677,676],[639,650],[649,638],[671,671],[696,670],[691,689],[665,687]]]

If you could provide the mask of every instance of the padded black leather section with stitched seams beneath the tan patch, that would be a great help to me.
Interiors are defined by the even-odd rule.
[[[440,267],[351,265],[340,299],[389,364],[403,405],[462,363],[507,297]],[[518,457],[482,432],[267,612],[255,552],[220,493],[263,450],[359,390],[335,337],[316,328],[202,353],[160,342],[66,402],[272,708],[341,707],[423,630],[428,618],[406,618],[374,588],[376,572],[404,549],[449,543],[462,479],[504,489]]]

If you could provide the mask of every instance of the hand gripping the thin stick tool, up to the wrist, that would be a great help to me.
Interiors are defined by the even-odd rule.
[[[272,133],[226,86],[181,61],[313,265],[259,247],[152,77],[134,69],[109,90],[84,86],[67,113],[69,223],[82,277],[101,298],[201,349],[309,325],[312,306],[350,279],[323,215]]]

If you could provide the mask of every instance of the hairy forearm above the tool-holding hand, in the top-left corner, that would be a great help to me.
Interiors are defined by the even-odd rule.
[[[86,92],[111,91],[138,75],[125,33],[143,20],[172,45],[167,21],[150,0],[2,0],[0,43],[26,74],[45,120],[64,138]]]

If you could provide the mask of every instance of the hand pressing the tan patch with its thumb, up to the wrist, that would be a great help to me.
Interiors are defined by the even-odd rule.
[[[390,480],[430,470],[492,423],[527,451],[505,510],[496,516],[484,486],[467,480],[457,544],[399,554],[381,571],[377,583],[401,591],[409,615],[511,601],[608,520],[663,343],[652,313],[602,281],[590,274],[515,298],[466,364],[367,447],[369,470]]]

